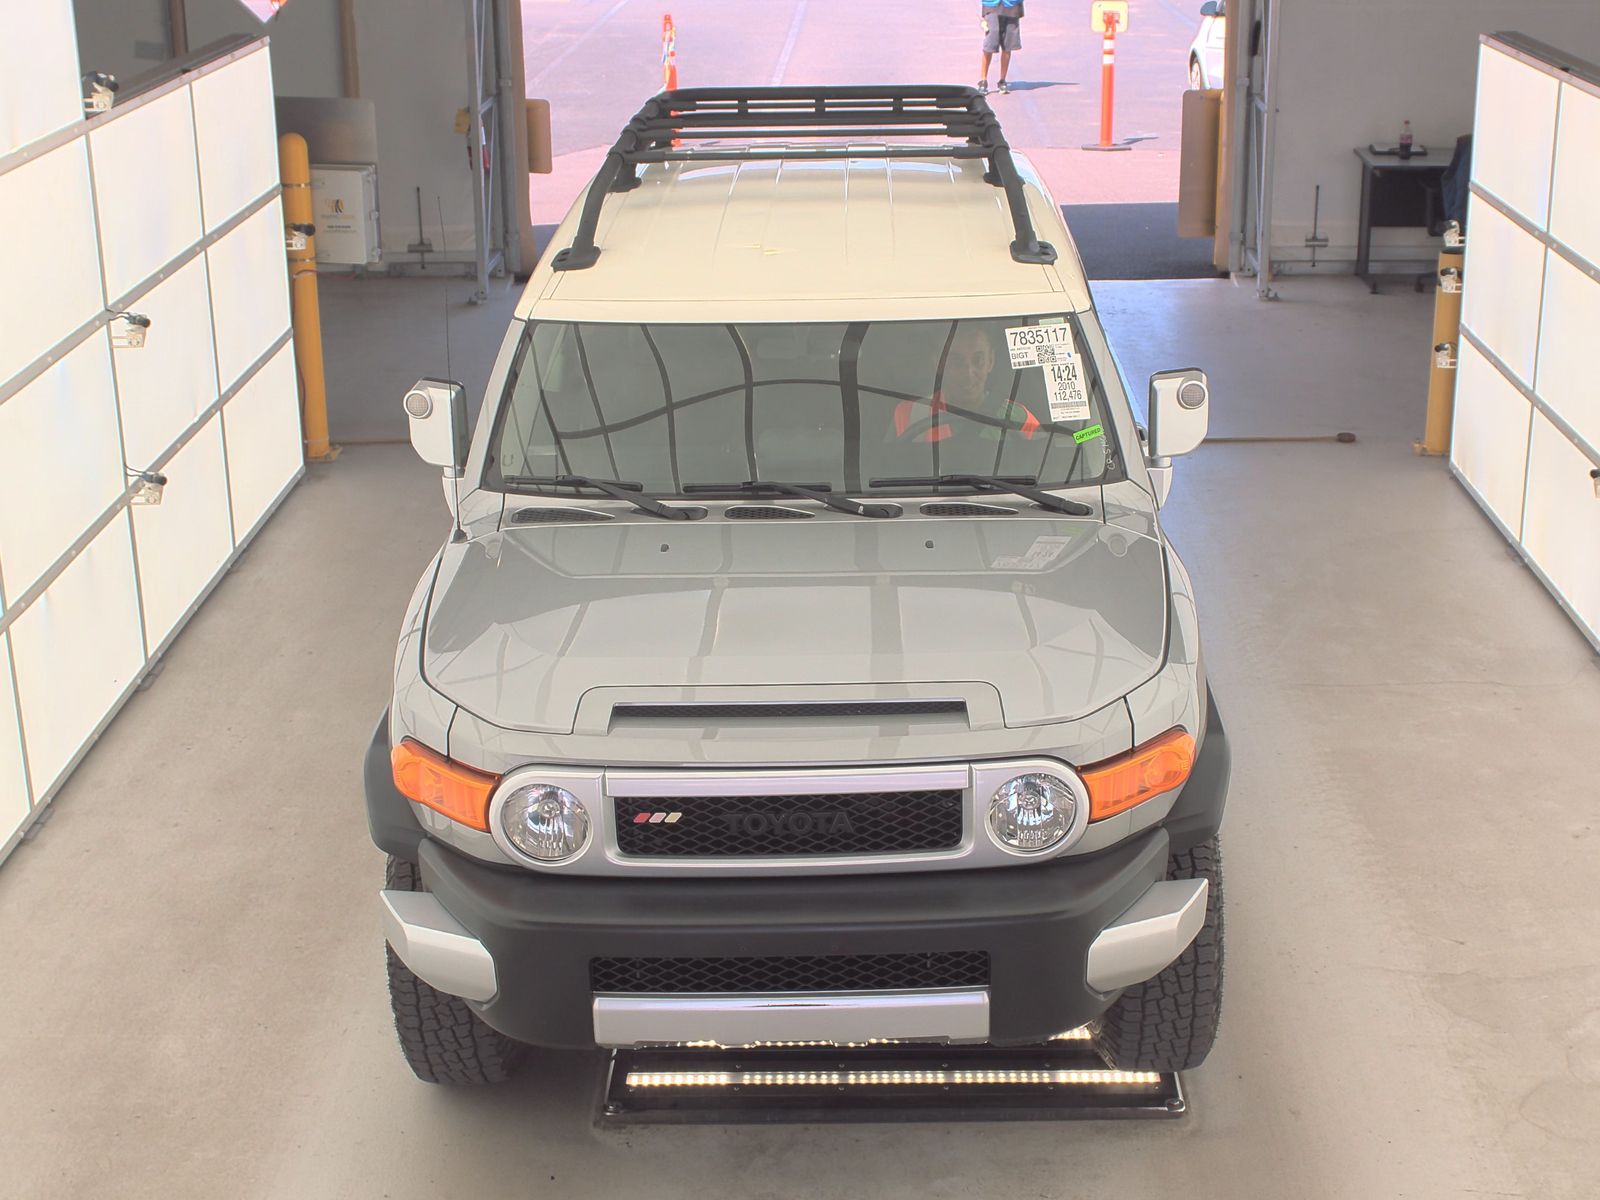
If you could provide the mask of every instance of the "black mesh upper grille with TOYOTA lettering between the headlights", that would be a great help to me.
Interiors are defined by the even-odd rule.
[[[960,790],[614,800],[632,858],[915,854],[962,842]]]

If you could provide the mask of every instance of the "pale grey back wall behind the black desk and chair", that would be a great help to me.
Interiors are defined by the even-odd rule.
[[[1309,262],[1312,198],[1322,184],[1318,264],[1355,261],[1360,165],[1354,149],[1394,142],[1406,118],[1430,157],[1450,162],[1472,131],[1478,37],[1515,29],[1600,58],[1600,0],[1282,0],[1278,125],[1272,173],[1272,258]],[[1232,32],[1232,30],[1230,30]],[[1422,230],[1373,234],[1373,258],[1421,258]]]

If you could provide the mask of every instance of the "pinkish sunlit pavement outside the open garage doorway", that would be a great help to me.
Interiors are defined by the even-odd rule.
[[[1178,197],[1179,104],[1200,3],[1133,0],[1117,38],[1123,154],[1099,138],[1101,37],[1088,3],[1035,3],[1022,21],[1010,96],[992,96],[1006,136],[1056,200]],[[1194,10],[1194,11],[1190,11]],[[523,0],[528,94],[549,99],[555,173],[534,176],[533,221],[558,221],[638,106],[661,88],[661,18],[677,22],[682,86],[976,83],[976,0]],[[990,90],[998,82],[998,56]]]

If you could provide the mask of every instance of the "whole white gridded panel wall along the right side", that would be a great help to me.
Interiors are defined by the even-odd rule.
[[[1451,469],[1600,646],[1600,69],[1486,43]]]

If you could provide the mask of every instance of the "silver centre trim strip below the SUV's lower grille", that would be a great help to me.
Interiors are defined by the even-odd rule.
[[[602,1046],[984,1042],[989,989],[782,995],[597,995]]]

